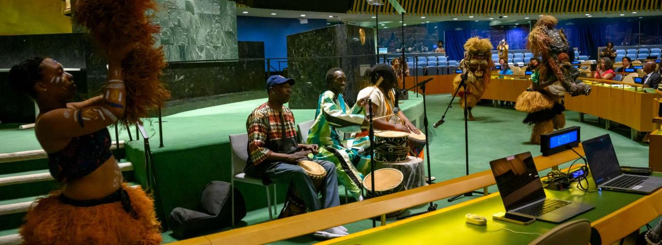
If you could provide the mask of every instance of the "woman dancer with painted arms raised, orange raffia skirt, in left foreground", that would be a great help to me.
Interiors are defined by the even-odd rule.
[[[51,58],[14,66],[9,83],[37,103],[34,132],[62,189],[30,207],[21,236],[26,244],[160,244],[154,201],[123,183],[107,126],[140,123],[169,92],[159,81],[165,66],[154,48],[158,26],[145,16],[153,1],[80,0],[76,20],[91,31],[108,58],[103,93],[68,103],[73,76]]]

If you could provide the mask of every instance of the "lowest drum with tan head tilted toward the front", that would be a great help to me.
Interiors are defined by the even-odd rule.
[[[400,170],[395,168],[383,168],[375,170],[375,197],[389,195],[404,190],[402,179],[404,176]],[[372,173],[368,173],[363,179],[365,196],[372,197]]]

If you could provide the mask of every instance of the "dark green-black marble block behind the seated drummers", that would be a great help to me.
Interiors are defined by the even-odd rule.
[[[363,32],[363,34],[361,34]],[[315,109],[320,93],[326,91],[326,71],[340,67],[347,76],[344,97],[353,105],[367,84],[359,66],[376,63],[373,30],[338,24],[287,36],[288,76],[297,81],[289,107]],[[330,57],[332,58],[324,58]],[[338,57],[341,56],[341,57]]]

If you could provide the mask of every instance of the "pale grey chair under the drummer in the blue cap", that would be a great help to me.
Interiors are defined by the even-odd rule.
[[[254,177],[249,177],[244,173],[244,166],[248,160],[248,133],[244,134],[230,134],[230,154],[232,155],[232,164],[230,164],[230,189],[232,190],[232,198],[234,198],[234,181],[250,183],[253,185],[262,185],[267,192],[267,209],[269,209],[269,221],[273,221],[273,214],[271,214],[271,191],[269,187],[273,185],[273,213],[277,213],[276,209],[276,184],[263,185],[262,180]],[[234,227],[234,201],[232,201],[232,227]]]

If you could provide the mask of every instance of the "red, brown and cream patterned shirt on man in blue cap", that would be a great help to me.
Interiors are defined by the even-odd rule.
[[[294,115],[287,107],[276,111],[263,103],[246,120],[248,160],[246,167],[258,165],[271,152],[289,154],[297,150],[297,130]]]

